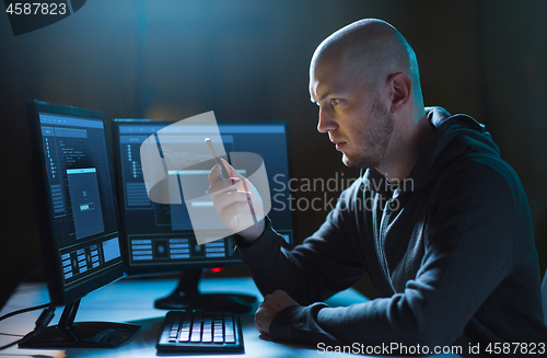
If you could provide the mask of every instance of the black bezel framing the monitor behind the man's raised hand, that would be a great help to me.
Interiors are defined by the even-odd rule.
[[[207,262],[207,263],[181,263],[181,265],[172,264],[170,267],[167,265],[161,265],[161,264],[150,264],[149,266],[132,266],[129,265],[129,250],[128,250],[128,241],[127,241],[127,232],[126,232],[126,216],[125,216],[125,206],[124,206],[124,183],[123,183],[123,177],[121,177],[121,163],[119,161],[120,159],[120,146],[119,146],[119,126],[123,124],[165,124],[171,125],[176,123],[177,120],[175,119],[150,119],[150,118],[113,118],[110,120],[112,125],[112,153],[113,153],[113,163],[114,163],[114,177],[115,177],[115,183],[116,183],[116,192],[118,195],[118,203],[120,205],[119,207],[119,218],[120,218],[120,235],[123,238],[123,244],[121,244],[121,255],[124,257],[124,263],[125,263],[125,273],[128,276],[152,276],[152,275],[168,275],[168,274],[176,274],[179,273],[181,270],[187,270],[187,269],[198,269],[198,268],[211,268],[211,267],[232,267],[232,266],[244,266],[245,264],[241,261],[233,261],[231,263],[228,262],[222,262],[218,265],[214,265],[212,262]],[[282,125],[284,127],[284,135],[286,135],[286,141],[287,146],[289,148],[289,123],[287,120],[265,120],[265,122],[230,122],[230,123],[219,123],[219,126],[245,126],[245,125],[260,125],[260,126],[267,126],[267,125]],[[289,150],[289,149],[288,149]],[[288,155],[288,171],[289,174],[291,173],[291,162],[290,162],[290,157]],[[291,212],[291,222],[294,223],[294,218],[293,213]],[[294,230],[292,230],[294,234]],[[291,243],[294,242],[294,235],[291,235]],[[162,267],[163,266],[163,267]]]

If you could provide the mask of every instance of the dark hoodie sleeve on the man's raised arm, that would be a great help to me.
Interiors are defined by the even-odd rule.
[[[236,253],[264,296],[281,289],[300,304],[310,304],[351,287],[365,274],[347,232],[352,224],[344,209],[358,187],[356,184],[345,190],[319,230],[293,250],[282,247],[284,240],[271,228],[269,219],[253,245],[246,246],[236,239]]]

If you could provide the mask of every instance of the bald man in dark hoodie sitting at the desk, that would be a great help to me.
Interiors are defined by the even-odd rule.
[[[313,345],[459,346],[468,356],[478,344],[488,356],[493,344],[519,355],[526,343],[545,354],[520,180],[482,125],[423,107],[416,55],[397,30],[363,20],[330,35],[312,58],[310,94],[317,129],[363,174],[303,244],[282,249],[268,218],[248,224],[257,193],[242,190],[232,169],[231,182],[219,166],[209,175],[217,212],[238,232],[238,255],[265,295],[258,331]],[[365,274],[379,299],[317,303]]]

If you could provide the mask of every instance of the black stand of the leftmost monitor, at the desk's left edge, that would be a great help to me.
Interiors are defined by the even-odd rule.
[[[35,336],[28,333],[20,348],[112,348],[132,336],[139,325],[113,322],[75,322],[80,300],[65,307],[59,323]],[[32,337],[31,337],[32,336]],[[25,338],[26,338],[25,337]]]

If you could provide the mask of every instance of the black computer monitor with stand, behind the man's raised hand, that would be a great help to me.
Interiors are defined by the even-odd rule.
[[[112,123],[127,274],[182,272],[178,287],[168,297],[158,300],[155,308],[221,308],[246,312],[251,309],[248,302],[252,299],[245,296],[203,296],[197,288],[203,268],[243,264],[234,253],[234,238],[226,236],[198,245],[184,200],[178,205],[158,204],[151,201],[147,194],[140,147],[148,137],[172,124],[174,122],[151,119],[114,119]],[[269,217],[275,222],[276,231],[288,243],[292,243],[287,123],[219,124],[218,127],[226,153],[252,152],[264,159],[270,192],[275,194]],[[205,136],[199,132],[199,128],[194,128],[184,136],[185,141],[206,148]],[[173,154],[191,155],[191,150],[171,153]],[[202,183],[203,190],[209,186],[207,176],[212,168],[211,162],[208,168],[191,171],[195,176],[193,181]],[[214,210],[212,200],[207,201],[207,198],[200,205],[203,209]]]

